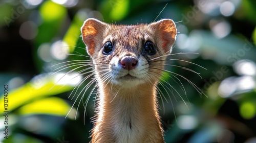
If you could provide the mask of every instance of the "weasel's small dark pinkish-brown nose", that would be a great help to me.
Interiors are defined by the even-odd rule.
[[[136,67],[137,60],[134,57],[125,56],[121,59],[120,63],[123,69],[132,70]]]

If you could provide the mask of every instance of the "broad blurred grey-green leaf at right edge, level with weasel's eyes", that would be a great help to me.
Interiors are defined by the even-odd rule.
[[[256,61],[255,46],[246,38],[240,39],[230,34],[219,39],[212,33],[203,30],[194,30],[189,37],[199,40],[200,53],[204,58],[214,60],[221,65],[232,65],[245,57]]]

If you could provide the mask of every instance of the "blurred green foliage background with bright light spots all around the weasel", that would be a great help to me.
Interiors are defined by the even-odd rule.
[[[82,84],[75,80],[90,73],[81,77],[67,72],[79,72],[82,60],[89,60],[80,27],[94,17],[128,25],[161,18],[176,21],[179,33],[173,60],[167,64],[184,66],[200,76],[175,66],[166,69],[186,77],[204,93],[164,73],[159,88],[165,97],[159,96],[159,113],[166,142],[255,142],[255,7],[253,0],[0,2],[1,121],[6,113],[5,84],[9,111],[8,139],[1,122],[1,141],[90,141],[95,94],[84,106],[96,89],[86,86],[91,79]]]

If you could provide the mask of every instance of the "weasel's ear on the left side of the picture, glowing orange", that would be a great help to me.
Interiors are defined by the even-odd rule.
[[[103,41],[103,33],[108,25],[97,19],[89,18],[81,27],[82,40],[87,46],[87,52],[93,56],[95,49]]]

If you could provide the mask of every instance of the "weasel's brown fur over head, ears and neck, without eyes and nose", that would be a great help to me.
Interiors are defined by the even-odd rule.
[[[95,64],[99,86],[91,142],[164,142],[157,112],[156,88],[161,77],[161,70],[158,69],[164,68],[166,56],[163,55],[171,52],[176,38],[175,23],[162,19],[149,25],[124,26],[88,19],[81,31]],[[112,54],[104,55],[101,52],[106,41],[113,43]],[[146,41],[154,43],[155,55],[143,52]],[[120,61],[124,56],[132,56],[143,63],[138,67],[141,72],[146,71],[141,78],[115,78],[123,70],[117,67],[115,60]]]

